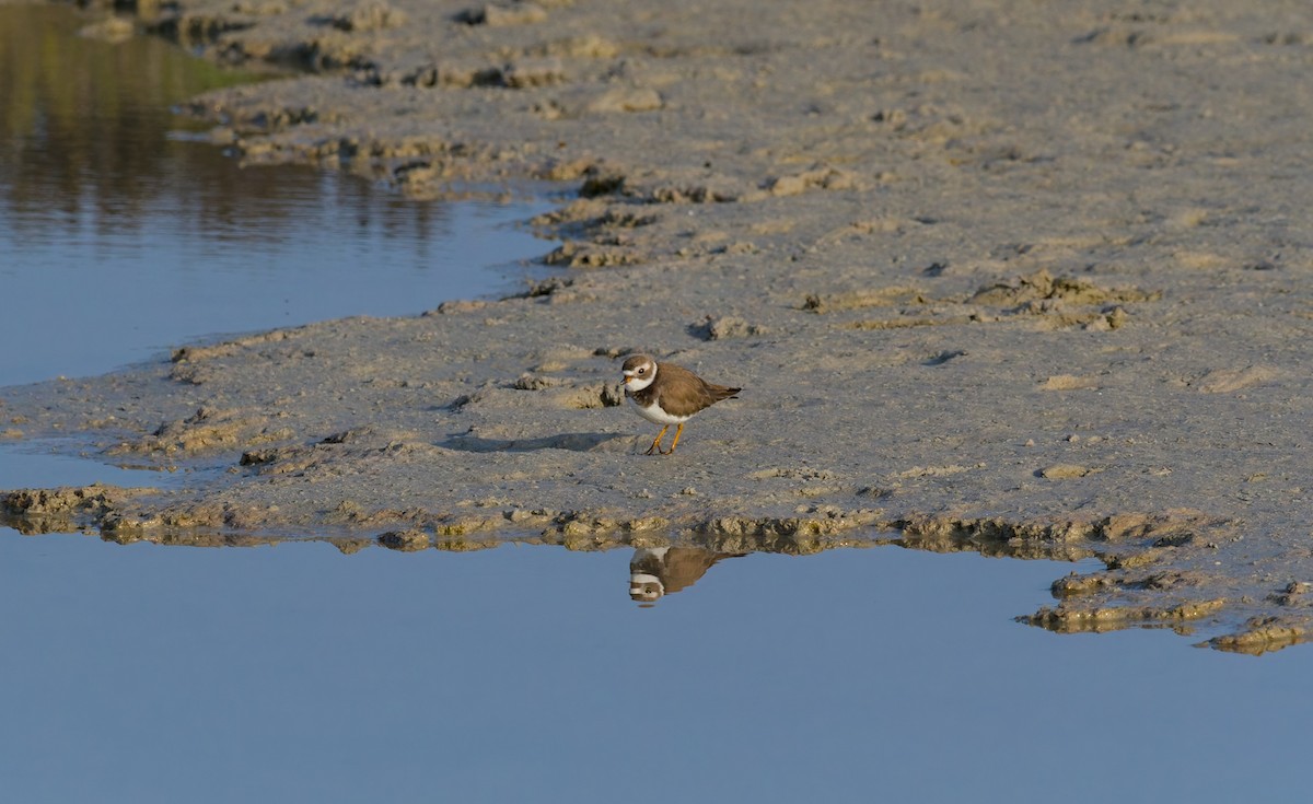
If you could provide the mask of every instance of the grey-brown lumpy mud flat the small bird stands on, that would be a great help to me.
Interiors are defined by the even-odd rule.
[[[116,537],[889,531],[1102,558],[1039,625],[1302,640],[1313,11],[873,5],[184,0],[158,30],[316,71],[198,99],[217,142],[567,181],[559,279],[4,389],[3,432],[227,469],[70,511]],[[642,456],[632,351],[742,399]]]

